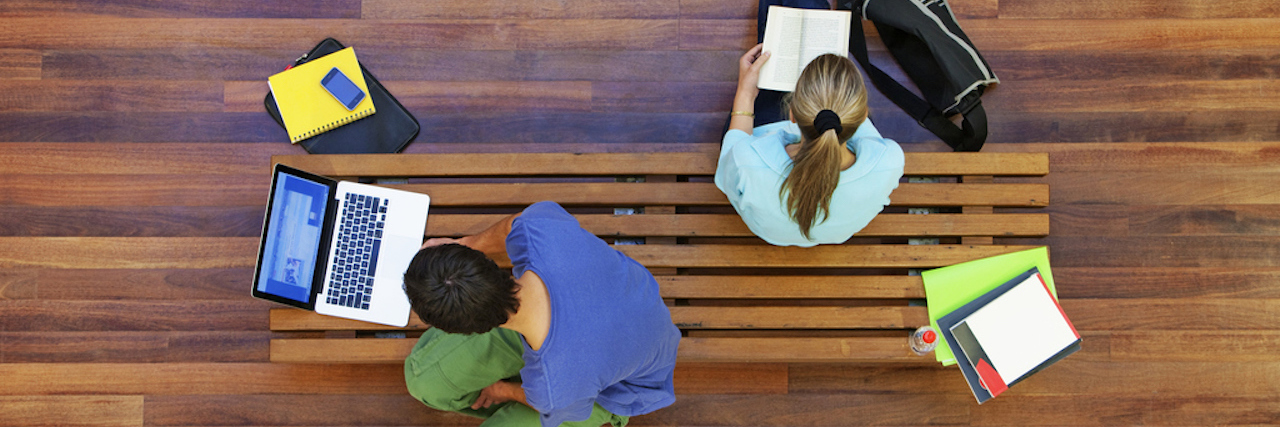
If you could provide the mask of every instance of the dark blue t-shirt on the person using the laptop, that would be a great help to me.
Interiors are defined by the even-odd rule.
[[[507,254],[516,277],[534,271],[550,295],[550,331],[536,352],[525,343],[520,369],[543,426],[586,419],[593,403],[630,417],[676,401],[680,330],[649,270],[554,202],[516,217]]]

